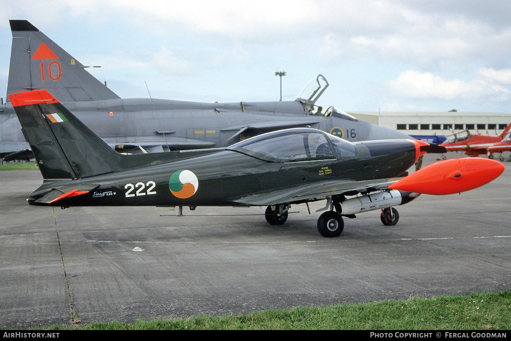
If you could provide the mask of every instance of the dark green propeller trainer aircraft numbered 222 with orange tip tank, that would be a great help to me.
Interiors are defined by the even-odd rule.
[[[335,237],[343,230],[342,216],[382,209],[382,222],[395,224],[399,215],[392,206],[418,193],[482,186],[504,168],[483,158],[454,166],[447,160],[399,180],[420,155],[445,148],[404,139],[352,143],[312,128],[273,131],[226,148],[126,155],[46,90],[9,97],[44,178],[28,198],[33,205],[268,206],[267,221],[283,224],[291,204],[327,199],[330,210],[317,228]]]

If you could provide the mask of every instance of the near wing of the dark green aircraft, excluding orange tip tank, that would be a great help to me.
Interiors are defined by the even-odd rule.
[[[231,200],[252,206],[271,206],[285,202],[299,203],[324,199],[332,195],[353,195],[354,193],[373,192],[388,188],[400,180],[398,178],[375,180],[328,180],[313,184],[283,188],[265,193],[250,194],[244,197],[231,198]],[[351,193],[351,194],[347,194]]]

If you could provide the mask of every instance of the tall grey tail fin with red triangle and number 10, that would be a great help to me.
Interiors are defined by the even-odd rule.
[[[27,90],[47,90],[62,102],[120,98],[89,74],[27,20],[9,20],[12,31],[7,95]]]

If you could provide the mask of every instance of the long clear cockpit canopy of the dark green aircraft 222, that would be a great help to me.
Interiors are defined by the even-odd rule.
[[[355,156],[353,143],[311,128],[272,131],[238,142],[227,149],[271,162],[313,161]]]

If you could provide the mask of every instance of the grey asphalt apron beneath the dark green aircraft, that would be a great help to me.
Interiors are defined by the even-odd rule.
[[[452,153],[451,157],[461,154]],[[423,166],[436,155],[426,155]],[[324,201],[282,226],[264,207],[34,207],[38,171],[0,172],[0,328],[370,302],[511,286],[511,163],[471,192],[422,195],[316,229]],[[140,250],[140,251],[137,251]]]

